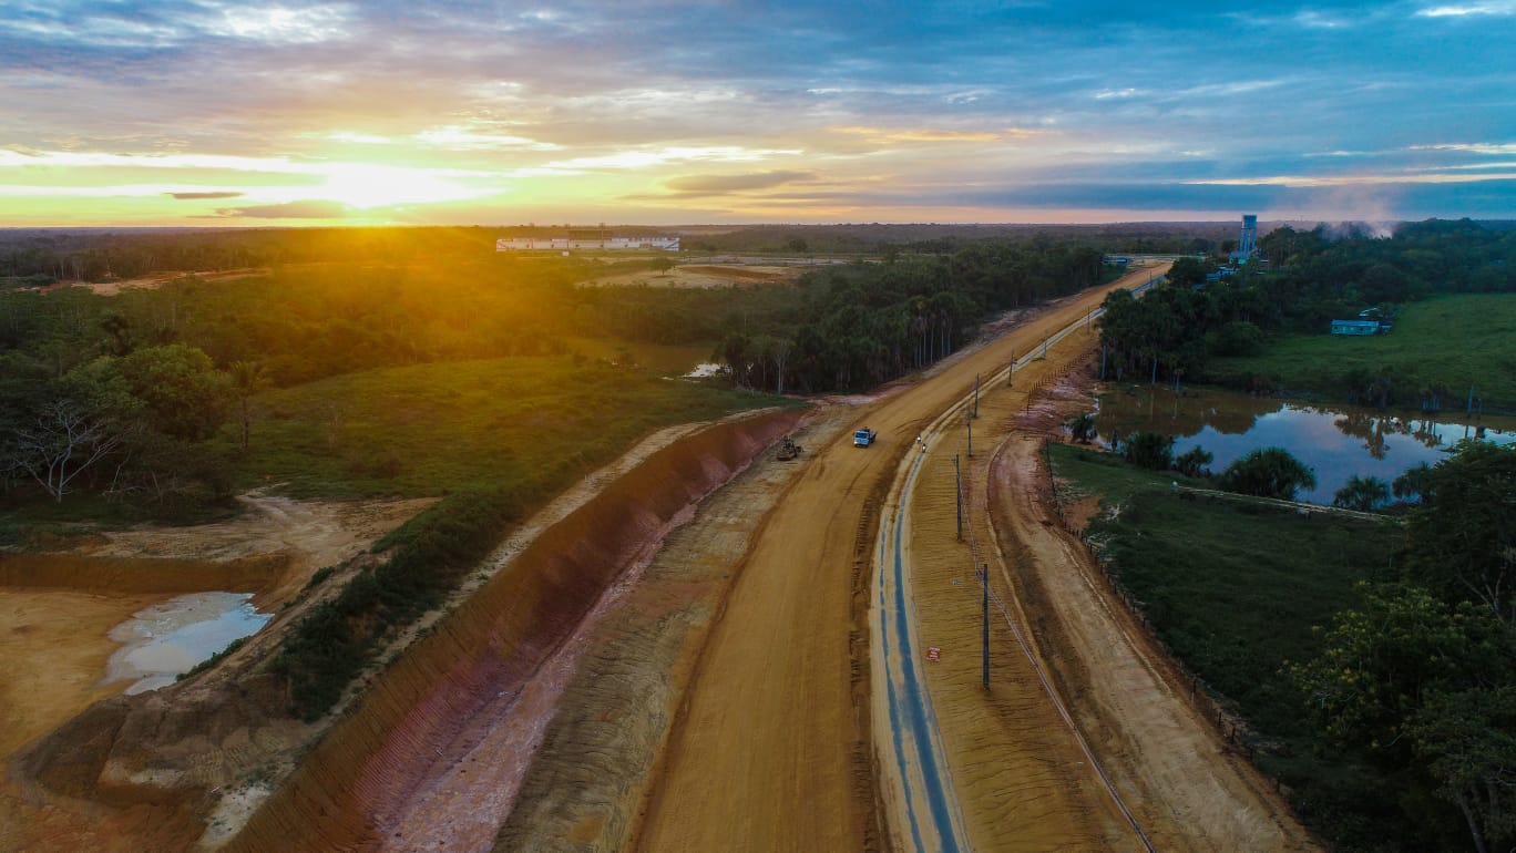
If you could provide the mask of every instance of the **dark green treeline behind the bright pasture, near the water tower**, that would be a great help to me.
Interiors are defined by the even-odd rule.
[[[1258,245],[1269,268],[1246,264],[1207,280],[1214,262],[1181,258],[1167,286],[1140,300],[1111,294],[1101,318],[1107,376],[1205,379],[1214,356],[1260,355],[1275,335],[1325,333],[1331,320],[1366,308],[1392,320],[1399,305],[1436,294],[1516,291],[1516,232],[1469,220],[1404,224],[1389,238],[1281,227]],[[1373,376],[1349,385],[1352,402],[1392,402]],[[1417,389],[1427,398],[1436,391]]]

